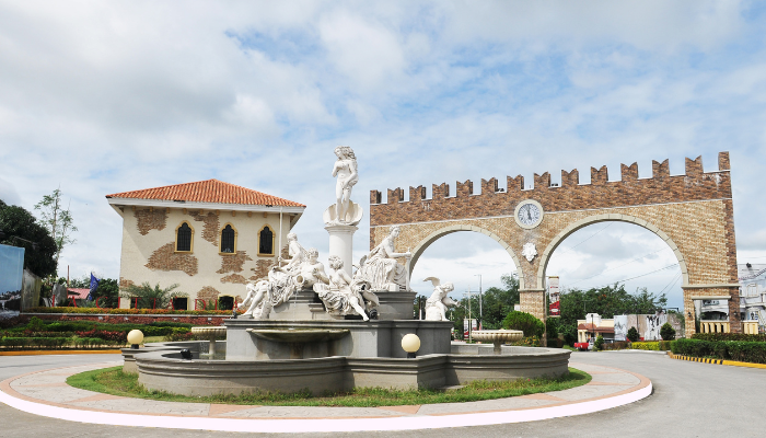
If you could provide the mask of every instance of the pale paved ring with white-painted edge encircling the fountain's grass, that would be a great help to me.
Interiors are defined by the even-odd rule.
[[[104,366],[108,366],[105,364]],[[77,367],[72,367],[77,368]],[[74,420],[81,423],[116,425],[116,426],[142,426],[161,427],[171,429],[207,429],[221,431],[262,431],[262,433],[306,433],[306,431],[365,431],[365,430],[416,430],[428,428],[448,428],[464,426],[483,426],[495,424],[523,423],[539,419],[557,418],[562,416],[583,415],[612,407],[622,406],[641,400],[652,392],[652,384],[649,379],[629,371],[617,370],[608,367],[597,367],[601,370],[594,371],[594,379],[600,374],[625,376],[639,383],[595,383],[567,391],[578,391],[582,389],[593,390],[594,388],[614,388],[617,391],[611,392],[606,396],[591,396],[587,399],[550,402],[544,407],[521,407],[504,410],[481,410],[485,402],[476,402],[476,410],[472,412],[453,413],[439,412],[430,414],[396,413],[395,416],[363,416],[363,417],[290,417],[290,418],[243,418],[243,417],[205,417],[197,415],[158,414],[150,407],[146,412],[106,411],[103,408],[81,407],[72,404],[46,402],[40,399],[33,399],[21,394],[11,388],[16,379],[23,379],[39,372],[56,371],[57,376],[62,376],[62,368],[47,371],[30,372],[0,382],[0,402],[14,408],[51,418]],[[66,369],[66,368],[65,368]],[[72,371],[76,373],[78,371]],[[630,377],[631,376],[631,377]],[[61,377],[66,379],[66,377]],[[625,379],[625,378],[623,378]],[[614,387],[617,384],[617,387]],[[604,387],[606,385],[606,387]],[[611,387],[610,387],[611,385]],[[619,387],[629,385],[622,390]],[[38,387],[38,385],[35,385]],[[18,388],[23,388],[18,387]],[[81,391],[81,390],[77,390]],[[593,394],[585,390],[585,394]],[[518,399],[518,397],[514,397]],[[554,397],[555,399],[555,397]],[[130,402],[132,399],[124,399]],[[147,402],[141,400],[141,402]],[[490,401],[491,402],[491,401]],[[73,402],[72,402],[73,403]],[[165,403],[165,402],[155,402]],[[492,404],[487,403],[487,407]],[[497,405],[495,405],[497,406]],[[251,406],[252,407],[252,406]],[[247,407],[245,407],[247,408]],[[305,407],[311,410],[311,407]],[[472,407],[473,408],[473,407]],[[391,414],[391,413],[388,413]],[[208,414],[213,415],[213,414]],[[341,414],[343,415],[343,414]]]

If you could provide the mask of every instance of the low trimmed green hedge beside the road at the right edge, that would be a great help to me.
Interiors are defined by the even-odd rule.
[[[766,364],[766,342],[678,339],[671,344],[671,350],[675,355]]]

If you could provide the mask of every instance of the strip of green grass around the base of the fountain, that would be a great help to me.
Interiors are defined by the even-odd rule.
[[[227,403],[272,406],[396,406],[431,403],[460,403],[480,400],[561,391],[583,385],[591,376],[574,368],[559,378],[520,379],[513,381],[477,380],[464,388],[440,391],[432,389],[391,390],[383,388],[358,388],[350,392],[312,395],[307,390],[285,394],[280,392],[256,392],[243,395],[186,396],[163,391],[149,391],[138,383],[138,374],[123,372],[123,367],[81,372],[67,379],[71,387],[112,395],[160,400],[166,402]]]

